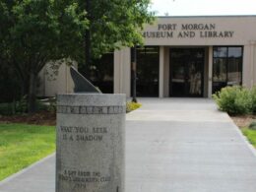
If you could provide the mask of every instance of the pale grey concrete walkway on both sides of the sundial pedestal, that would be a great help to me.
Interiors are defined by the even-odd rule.
[[[127,115],[126,192],[255,192],[256,154],[210,99],[143,98]],[[54,192],[54,156],[0,192]]]

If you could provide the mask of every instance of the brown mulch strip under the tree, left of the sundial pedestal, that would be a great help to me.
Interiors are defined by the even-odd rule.
[[[27,123],[35,125],[56,125],[56,114],[53,112],[40,111],[29,115],[0,116],[0,122],[4,123]]]

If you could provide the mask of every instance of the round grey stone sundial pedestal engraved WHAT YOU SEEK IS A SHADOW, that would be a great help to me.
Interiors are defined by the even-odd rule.
[[[57,96],[56,192],[124,191],[125,95]]]

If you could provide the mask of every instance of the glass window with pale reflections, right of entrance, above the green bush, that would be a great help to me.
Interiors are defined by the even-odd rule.
[[[242,84],[242,47],[214,47],[213,93]]]

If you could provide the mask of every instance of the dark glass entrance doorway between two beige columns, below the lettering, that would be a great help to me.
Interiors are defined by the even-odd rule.
[[[169,55],[169,96],[203,96],[205,49],[170,48]]]

